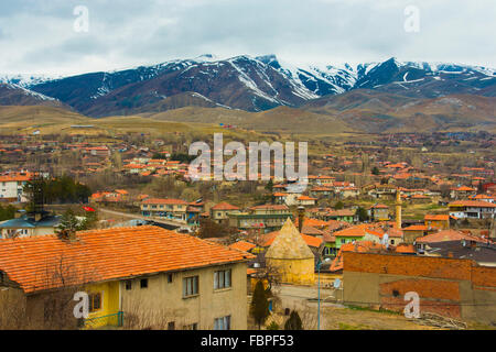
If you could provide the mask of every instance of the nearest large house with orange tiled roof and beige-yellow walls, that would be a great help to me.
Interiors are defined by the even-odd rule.
[[[241,330],[252,257],[148,226],[0,240],[0,299],[17,295],[29,318],[43,321],[52,293],[83,290],[85,328]]]

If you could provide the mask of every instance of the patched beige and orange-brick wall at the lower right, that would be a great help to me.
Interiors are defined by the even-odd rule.
[[[496,268],[471,260],[346,252],[343,280],[348,305],[402,311],[416,292],[421,312],[496,321]]]

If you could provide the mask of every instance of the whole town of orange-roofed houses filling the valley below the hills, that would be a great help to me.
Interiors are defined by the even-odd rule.
[[[301,190],[276,177],[263,158],[260,167],[272,170],[268,182],[214,175],[194,182],[188,165],[195,156],[182,141],[195,141],[179,132],[109,139],[77,128],[62,135],[2,135],[2,295],[24,308],[2,309],[0,321],[220,330],[284,329],[296,321],[301,329],[374,329],[384,323],[380,317],[371,326],[353,324],[331,312],[353,316],[362,307],[379,316],[398,312],[399,320],[405,295],[414,292],[422,316],[390,322],[395,328],[492,326],[496,165],[487,145],[496,138],[446,133],[436,136],[446,143],[424,146],[429,139],[314,139]],[[463,147],[446,152],[444,145],[460,139]],[[51,250],[36,254],[41,248]],[[86,319],[35,308],[40,299],[57,307],[78,290],[89,293]],[[268,305],[262,314],[254,308],[260,301]]]

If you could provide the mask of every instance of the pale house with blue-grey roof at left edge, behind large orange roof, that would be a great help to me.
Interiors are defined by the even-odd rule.
[[[0,239],[25,238],[54,233],[60,216],[44,213],[15,213],[15,219],[0,222]]]

